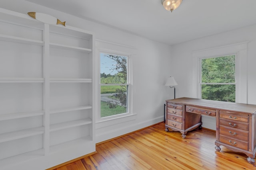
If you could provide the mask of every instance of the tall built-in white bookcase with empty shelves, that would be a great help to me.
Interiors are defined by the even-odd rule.
[[[1,168],[94,152],[94,34],[2,8],[0,28]]]

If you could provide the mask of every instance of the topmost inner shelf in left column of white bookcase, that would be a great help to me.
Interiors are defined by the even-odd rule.
[[[44,45],[44,41],[38,41],[34,39],[27,39],[27,38],[22,38],[22,37],[14,37],[10,35],[2,35],[0,34],[0,40],[1,41],[11,41],[14,43],[25,43],[25,44],[30,44],[30,45]]]

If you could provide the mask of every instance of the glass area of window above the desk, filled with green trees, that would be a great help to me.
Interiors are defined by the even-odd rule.
[[[201,98],[236,102],[236,56],[201,59]]]

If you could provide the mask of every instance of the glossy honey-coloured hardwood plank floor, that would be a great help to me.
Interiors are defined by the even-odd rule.
[[[182,139],[160,123],[96,146],[98,153],[55,170],[256,170],[243,153],[214,147],[215,132],[196,129]]]

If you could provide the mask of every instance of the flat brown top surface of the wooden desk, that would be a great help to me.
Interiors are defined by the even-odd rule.
[[[256,114],[256,105],[253,104],[241,104],[233,102],[221,102],[215,100],[204,100],[196,98],[177,98],[172,100],[166,100],[166,102],[174,102],[184,105],[210,107],[213,109],[222,109],[228,111],[239,111],[249,114]]]

